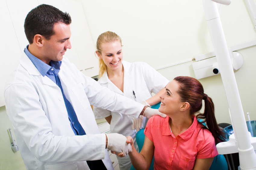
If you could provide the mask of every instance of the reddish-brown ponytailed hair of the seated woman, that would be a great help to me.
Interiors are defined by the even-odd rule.
[[[178,94],[182,102],[188,102],[190,104],[190,114],[196,114],[197,119],[203,119],[200,124],[206,122],[209,131],[212,133],[215,144],[219,143],[218,135],[223,135],[217,124],[214,115],[214,104],[213,100],[204,94],[203,85],[192,77],[179,76],[174,78],[179,84]],[[202,100],[204,100],[204,113],[199,113],[202,108]],[[202,125],[202,128],[206,128]]]

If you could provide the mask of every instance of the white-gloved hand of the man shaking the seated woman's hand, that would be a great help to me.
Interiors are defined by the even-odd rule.
[[[118,133],[109,133],[106,135],[108,138],[107,149],[116,153],[124,153],[124,155],[132,151],[131,144],[126,143],[127,138],[124,135]]]

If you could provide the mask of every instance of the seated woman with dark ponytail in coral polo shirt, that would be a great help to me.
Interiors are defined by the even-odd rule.
[[[159,111],[167,117],[153,116],[148,120],[141,152],[132,145],[129,153],[134,168],[148,169],[154,155],[156,170],[209,169],[213,157],[218,155],[215,144],[221,131],[214,116],[213,101],[204,94],[201,83],[191,77],[176,77],[160,98]],[[195,116],[202,108],[202,100],[204,113]],[[205,119],[209,130],[197,118]]]

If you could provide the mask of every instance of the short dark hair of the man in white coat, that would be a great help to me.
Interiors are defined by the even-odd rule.
[[[71,23],[71,17],[67,12],[62,12],[51,5],[42,4],[32,9],[25,19],[24,29],[29,44],[33,43],[34,36],[40,34],[47,40],[55,34],[55,23]]]

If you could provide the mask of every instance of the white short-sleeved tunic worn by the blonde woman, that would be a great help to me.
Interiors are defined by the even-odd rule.
[[[158,93],[162,90],[168,83],[164,76],[158,73],[155,69],[144,62],[128,63],[127,61],[122,61],[124,67],[124,92],[117,88],[109,79],[107,72],[103,73],[103,76],[99,79],[99,83],[102,86],[109,88],[110,90],[124,95],[138,103],[143,100],[147,100],[152,97],[151,93]],[[133,94],[135,92],[135,96]],[[123,104],[126,105],[125,103]],[[93,113],[96,119],[102,119],[107,116],[112,115],[110,123],[110,132],[119,133],[124,136],[131,136],[134,140],[134,147],[138,150],[136,143],[136,129],[132,130],[133,117],[129,116],[129,113],[122,114],[114,111],[104,110],[99,107],[93,107]],[[144,129],[147,123],[147,118],[144,117],[141,129]],[[117,157],[120,161],[130,161],[129,156]]]

